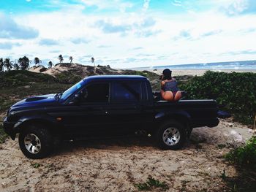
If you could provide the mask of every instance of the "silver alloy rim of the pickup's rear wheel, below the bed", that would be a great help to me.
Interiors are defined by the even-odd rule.
[[[181,134],[175,127],[166,128],[162,134],[162,140],[168,146],[176,145],[181,139]]]

